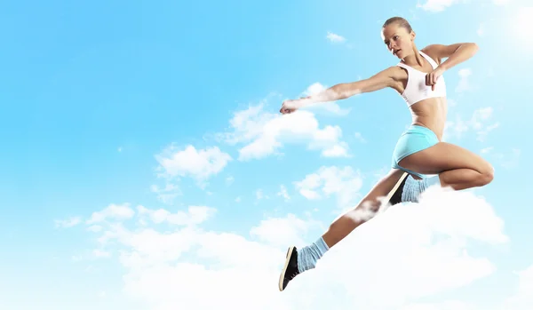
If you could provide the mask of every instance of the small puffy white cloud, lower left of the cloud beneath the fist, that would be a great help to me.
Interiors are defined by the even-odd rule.
[[[191,145],[185,149],[167,147],[161,154],[155,155],[160,164],[158,171],[163,171],[163,177],[191,177],[199,186],[204,187],[205,181],[222,171],[232,158],[222,152],[219,147],[196,149]]]

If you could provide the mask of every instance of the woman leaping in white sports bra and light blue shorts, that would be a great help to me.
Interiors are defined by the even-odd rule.
[[[383,204],[380,198],[394,193],[400,185],[401,201],[417,202],[418,195],[435,184],[462,190],[482,187],[492,181],[493,168],[481,156],[442,142],[447,115],[446,84],[442,74],[473,57],[478,46],[473,43],[431,44],[418,50],[415,36],[407,20],[401,17],[386,20],[382,27],[382,38],[387,49],[401,60],[396,66],[362,81],[338,83],[316,95],[282,103],[280,112],[289,114],[315,102],[346,99],[355,94],[390,87],[398,91],[407,103],[412,123],[394,148],[391,171],[378,181],[362,201],[336,219],[316,242],[299,250],[294,246],[289,248],[279,279],[279,290],[285,290],[296,275],[314,268],[327,250],[370,220]],[[447,60],[442,61],[445,58]],[[428,174],[438,176],[428,178]],[[405,178],[406,175],[409,177]],[[355,217],[354,213],[367,216]]]

